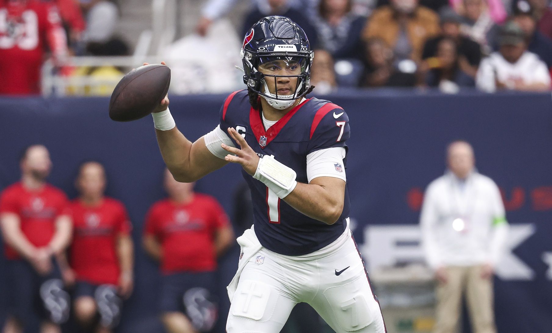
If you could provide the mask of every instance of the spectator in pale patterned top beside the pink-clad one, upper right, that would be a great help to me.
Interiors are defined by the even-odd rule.
[[[498,34],[498,25],[492,19],[485,0],[464,0],[460,15],[460,30],[465,36],[481,45],[485,55],[492,51],[492,41]]]

